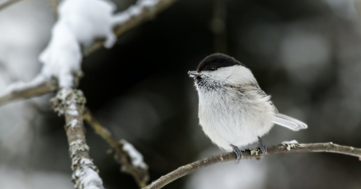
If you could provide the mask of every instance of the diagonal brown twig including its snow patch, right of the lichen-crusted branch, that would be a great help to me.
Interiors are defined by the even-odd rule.
[[[115,140],[88,109],[84,111],[83,118],[94,129],[95,133],[100,135],[112,148],[114,159],[121,165],[121,171],[132,175],[140,188],[145,187],[149,181],[149,173],[148,165],[144,163],[142,154],[126,140]]]

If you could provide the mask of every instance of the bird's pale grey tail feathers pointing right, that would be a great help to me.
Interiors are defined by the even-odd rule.
[[[298,131],[300,129],[307,129],[306,123],[280,113],[275,114],[273,123],[286,127],[293,131]]]

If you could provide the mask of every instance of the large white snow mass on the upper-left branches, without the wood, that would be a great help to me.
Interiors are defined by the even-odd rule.
[[[48,81],[52,76],[58,79],[59,87],[73,87],[74,74],[81,73],[81,45],[90,46],[95,39],[105,38],[104,47],[112,47],[117,39],[113,33],[114,26],[139,16],[143,10],[151,12],[159,1],[138,0],[135,5],[116,14],[116,6],[109,0],[62,1],[51,39],[38,57],[43,63],[42,71],[30,83],[10,85],[7,91],[30,88]]]

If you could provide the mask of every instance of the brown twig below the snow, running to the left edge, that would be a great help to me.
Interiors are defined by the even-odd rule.
[[[47,93],[56,91],[56,89],[57,89],[57,81],[55,79],[44,81],[36,85],[29,83],[29,85],[26,87],[22,87],[21,89],[17,89],[17,90],[10,90],[8,93],[1,95],[0,105],[4,105],[7,102],[14,100],[27,99],[35,96],[45,95]]]

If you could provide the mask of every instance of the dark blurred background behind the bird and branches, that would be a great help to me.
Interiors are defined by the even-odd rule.
[[[114,0],[118,11],[135,0]],[[309,125],[275,126],[266,146],[334,142],[361,147],[361,1],[181,0],[83,60],[79,88],[95,118],[144,156],[151,181],[222,151],[198,125],[187,71],[221,52],[247,65],[280,113]],[[30,81],[55,23],[51,1],[22,0],[0,11],[0,93]],[[64,118],[55,94],[0,107],[0,188],[73,188]],[[105,188],[137,188],[108,144],[87,127],[90,156]],[[253,144],[251,146],[257,146]],[[338,154],[272,155],[217,164],[167,189],[361,188],[361,163]]]

